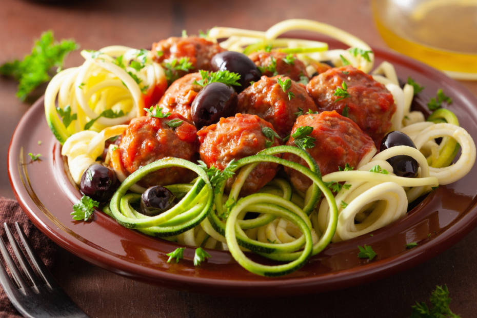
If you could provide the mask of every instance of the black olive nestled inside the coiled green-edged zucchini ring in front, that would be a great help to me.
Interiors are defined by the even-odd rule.
[[[174,200],[175,195],[169,189],[150,187],[141,195],[141,213],[148,216],[161,214],[175,205]]]

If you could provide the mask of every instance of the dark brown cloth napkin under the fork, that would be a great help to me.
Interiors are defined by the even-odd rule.
[[[22,210],[22,208],[18,205],[18,203],[14,200],[10,200],[8,198],[0,197],[0,233],[4,242],[7,245],[10,254],[13,255],[12,248],[10,243],[8,243],[7,234],[5,233],[5,229],[3,227],[4,223],[7,223],[10,229],[12,230],[13,235],[15,236],[17,242],[21,242],[19,240],[18,234],[16,233],[15,229],[15,222],[18,222],[18,225],[23,228],[23,231],[28,237],[28,241],[30,241],[31,246],[36,251],[39,257],[45,262],[46,267],[51,269],[53,265],[53,256],[56,253],[57,245],[54,244],[48,237],[45,236],[42,232],[40,232],[29,220],[28,216]],[[23,249],[23,245],[22,249]],[[24,253],[26,254],[25,250]],[[18,266],[18,263],[15,257],[12,257],[15,263]],[[2,257],[2,262],[3,261]],[[10,303],[10,300],[5,294],[5,291],[0,286],[0,318],[22,318],[23,316],[13,307]]]

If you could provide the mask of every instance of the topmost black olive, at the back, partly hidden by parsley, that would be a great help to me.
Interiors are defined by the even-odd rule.
[[[215,54],[210,61],[210,66],[214,72],[229,71],[240,75],[237,82],[242,86],[233,87],[237,93],[249,87],[250,82],[259,81],[262,75],[255,63],[247,55],[239,52],[225,51]]]

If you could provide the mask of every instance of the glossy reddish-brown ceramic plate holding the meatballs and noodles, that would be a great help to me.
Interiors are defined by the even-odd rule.
[[[477,100],[470,92],[443,73],[408,57],[381,49],[374,52],[376,66],[389,61],[400,78],[411,76],[426,87],[415,98],[414,109],[423,110],[421,105],[443,88],[453,100],[449,109],[477,140]],[[29,152],[42,153],[42,161],[31,162]],[[102,212],[96,212],[92,222],[73,221],[72,206],[81,195],[65,174],[61,146],[45,120],[43,98],[25,114],[13,134],[8,171],[18,202],[31,221],[58,245],[131,279],[201,293],[274,296],[360,285],[431,259],[477,225],[477,170],[473,169],[462,180],[432,191],[405,217],[374,231],[374,236],[330,244],[300,270],[285,277],[266,278],[246,271],[226,251],[208,250],[212,257],[200,267],[193,266],[193,248],[185,250],[180,263],[166,263],[166,253],[178,244],[124,228]],[[419,246],[406,249],[405,244],[410,242]],[[377,253],[373,261],[357,257],[357,246],[365,244]],[[257,255],[250,257],[261,260]]]

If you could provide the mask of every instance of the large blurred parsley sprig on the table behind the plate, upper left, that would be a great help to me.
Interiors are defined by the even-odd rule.
[[[24,101],[38,85],[48,82],[51,77],[48,71],[56,66],[59,72],[69,52],[77,50],[78,45],[72,40],[55,42],[53,32],[44,32],[35,42],[31,54],[23,61],[15,59],[0,66],[0,74],[12,76],[18,81],[16,96]]]

